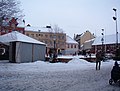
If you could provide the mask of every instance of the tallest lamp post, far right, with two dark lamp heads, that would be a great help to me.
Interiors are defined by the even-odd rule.
[[[115,11],[115,16],[113,17],[113,20],[115,20],[116,23],[116,57],[117,57],[118,56],[117,9],[113,8],[113,11]]]

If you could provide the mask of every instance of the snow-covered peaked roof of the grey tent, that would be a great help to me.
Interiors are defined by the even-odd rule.
[[[45,45],[45,43],[35,40],[17,31],[13,31],[11,33],[0,36],[0,42],[2,43],[9,43],[9,42],[15,42],[15,41]]]

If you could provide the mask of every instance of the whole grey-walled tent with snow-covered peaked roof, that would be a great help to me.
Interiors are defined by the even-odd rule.
[[[13,31],[0,36],[0,42],[8,43],[10,62],[45,60],[46,45],[22,33]]]

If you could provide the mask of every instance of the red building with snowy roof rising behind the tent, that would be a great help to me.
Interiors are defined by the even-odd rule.
[[[25,33],[24,26],[19,26],[17,18],[12,19],[4,19],[2,20],[2,24],[0,25],[0,35],[12,32],[12,31],[18,31],[21,33]]]

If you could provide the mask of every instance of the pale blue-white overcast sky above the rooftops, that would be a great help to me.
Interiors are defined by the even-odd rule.
[[[120,32],[120,0],[20,0],[26,25],[34,27],[57,24],[69,36],[86,30],[97,36],[101,29],[105,34],[115,34],[117,9],[118,30]]]

